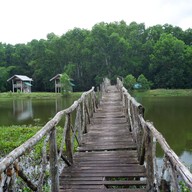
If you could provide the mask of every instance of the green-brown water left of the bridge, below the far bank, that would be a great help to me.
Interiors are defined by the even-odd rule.
[[[76,98],[0,100],[0,126],[44,125]]]

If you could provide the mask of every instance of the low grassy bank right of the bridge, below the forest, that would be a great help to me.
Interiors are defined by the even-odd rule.
[[[132,95],[141,97],[192,96],[192,89],[153,89],[144,92],[134,91]]]

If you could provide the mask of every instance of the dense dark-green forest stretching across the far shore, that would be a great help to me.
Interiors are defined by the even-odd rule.
[[[102,22],[27,44],[0,43],[0,92],[11,90],[7,79],[15,74],[33,78],[33,91],[52,91],[50,78],[63,72],[76,91],[128,74],[143,74],[152,88],[192,88],[192,29]]]

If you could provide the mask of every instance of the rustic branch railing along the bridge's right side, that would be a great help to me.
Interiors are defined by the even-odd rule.
[[[145,121],[143,106],[131,97],[120,79],[117,79],[117,86],[121,91],[129,130],[137,144],[140,164],[146,165],[149,191],[181,191],[180,182],[184,183],[188,191],[192,191],[190,171],[181,163],[153,123]],[[160,144],[164,152],[161,173],[157,170],[156,142]]]

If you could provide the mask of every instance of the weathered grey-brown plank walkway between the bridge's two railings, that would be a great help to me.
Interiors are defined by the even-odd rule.
[[[60,176],[61,192],[135,191],[146,189],[146,170],[137,160],[120,93],[108,88],[74,155],[74,164]]]

